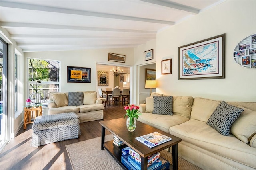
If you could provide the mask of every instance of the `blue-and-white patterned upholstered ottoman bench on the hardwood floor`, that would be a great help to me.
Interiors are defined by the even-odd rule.
[[[78,138],[79,118],[76,113],[61,113],[36,117],[32,125],[32,147]]]

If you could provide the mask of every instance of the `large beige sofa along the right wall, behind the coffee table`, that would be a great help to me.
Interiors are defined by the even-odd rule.
[[[150,97],[146,104],[139,105],[144,114],[138,121],[182,138],[178,144],[179,156],[204,170],[256,169],[256,102],[227,102],[244,109],[228,136],[207,124],[220,102],[173,96],[173,115],[161,115],[152,113],[154,98]]]

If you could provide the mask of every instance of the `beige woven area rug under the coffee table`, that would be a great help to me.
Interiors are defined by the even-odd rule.
[[[107,135],[105,141],[113,139]],[[66,145],[73,170],[122,170],[106,150],[100,148],[101,137]],[[160,155],[172,164],[172,155],[162,150]],[[179,170],[201,170],[194,164],[178,157]]]

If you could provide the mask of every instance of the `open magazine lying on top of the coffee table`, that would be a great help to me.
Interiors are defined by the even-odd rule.
[[[158,132],[149,133],[147,135],[136,137],[135,139],[137,139],[138,141],[140,141],[144,145],[147,145],[150,148],[172,140],[171,137],[168,137]]]

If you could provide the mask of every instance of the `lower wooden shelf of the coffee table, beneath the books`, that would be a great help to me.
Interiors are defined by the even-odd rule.
[[[113,145],[113,140],[112,141],[107,141],[103,144],[103,147],[108,151],[108,153],[116,160],[116,162],[124,169],[128,170],[124,164],[121,162],[121,156],[122,156],[122,149],[127,147],[126,145],[122,145],[121,147],[117,147]],[[172,165],[170,164],[169,169],[172,169]]]

